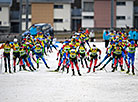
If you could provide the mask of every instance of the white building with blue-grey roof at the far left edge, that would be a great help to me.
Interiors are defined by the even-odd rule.
[[[12,0],[0,0],[0,33],[10,32],[10,7]]]

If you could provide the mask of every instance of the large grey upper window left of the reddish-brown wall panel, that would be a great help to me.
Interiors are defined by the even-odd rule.
[[[84,2],[83,3],[83,11],[85,12],[93,12],[94,11],[94,3],[93,2]]]

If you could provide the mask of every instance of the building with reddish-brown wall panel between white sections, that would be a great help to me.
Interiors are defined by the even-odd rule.
[[[114,28],[134,26],[134,1],[114,0]],[[111,0],[82,0],[83,28],[111,27]]]

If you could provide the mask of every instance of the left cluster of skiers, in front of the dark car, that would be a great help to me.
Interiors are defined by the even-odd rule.
[[[47,52],[52,52],[52,47],[56,50],[57,48],[52,44],[53,38],[49,33],[43,34],[38,32],[36,36],[31,36],[30,33],[22,36],[22,41],[14,39],[13,42],[6,41],[0,46],[0,49],[4,49],[3,57],[5,63],[5,72],[12,73],[11,63],[10,63],[10,53],[13,49],[13,71],[17,72],[16,65],[19,64],[19,71],[34,71],[36,68],[32,63],[32,59],[36,62],[37,68],[39,68],[39,60],[42,59],[45,66],[49,69],[44,55],[47,55]],[[36,56],[36,59],[34,57]],[[18,59],[18,61],[17,61]],[[8,62],[8,63],[7,63]],[[8,64],[8,67],[7,67]],[[29,70],[26,69],[26,66],[29,67]]]

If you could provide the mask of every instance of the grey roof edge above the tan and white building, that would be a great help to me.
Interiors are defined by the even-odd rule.
[[[17,0],[18,2],[20,0]],[[23,0],[25,2],[26,0]],[[29,0],[30,3],[74,3],[74,0]]]

